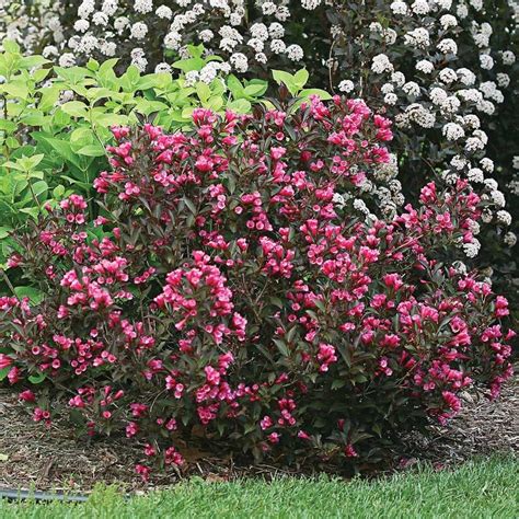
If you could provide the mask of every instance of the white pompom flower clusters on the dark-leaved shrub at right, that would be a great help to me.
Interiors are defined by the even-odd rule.
[[[406,0],[378,9],[366,4],[362,24],[355,27],[357,51],[350,53],[349,61],[337,59],[335,67],[343,70],[339,91],[381,101],[396,123],[396,138],[404,139],[406,154],[408,143],[416,141],[417,158],[422,159],[423,142],[430,142],[434,159],[429,164],[447,166],[447,182],[464,177],[474,188],[488,191],[485,177],[494,172],[494,164],[485,158],[486,118],[499,113],[516,56],[510,48],[495,47],[494,41],[500,41],[494,38],[496,14],[493,2],[486,3]],[[519,2],[515,3],[517,10]],[[347,8],[343,16],[348,19]],[[485,16],[488,22],[481,22]],[[381,18],[387,22],[383,26],[378,21]],[[337,42],[354,31],[347,23],[345,27],[343,32],[336,28]],[[460,54],[462,46],[465,51]],[[484,199],[488,204],[486,218],[509,226],[511,217],[503,210],[505,197],[497,185]],[[478,243],[463,246],[471,256],[480,249]]]

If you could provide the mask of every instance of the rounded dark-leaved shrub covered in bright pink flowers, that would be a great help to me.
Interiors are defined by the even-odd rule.
[[[195,109],[194,130],[114,128],[94,226],[78,195],[19,238],[39,303],[0,299],[0,366],[34,419],[143,442],[373,462],[511,374],[508,314],[476,274],[435,260],[470,243],[482,200],[459,178],[377,217],[391,124],[318,99],[254,115]]]

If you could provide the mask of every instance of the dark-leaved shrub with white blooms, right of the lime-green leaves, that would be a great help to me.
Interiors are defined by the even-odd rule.
[[[462,176],[475,187],[485,183],[492,188],[483,220],[494,224],[482,228],[478,265],[494,266],[498,286],[508,285],[516,298],[509,274],[518,277],[512,263],[517,247],[510,250],[517,227],[509,227],[512,218],[501,192],[514,212],[517,151],[509,146],[509,131],[516,126],[517,2],[367,1],[355,10],[351,3],[358,2],[335,2],[331,19],[334,82],[395,119],[395,149],[402,150],[400,171],[408,195],[419,192],[425,176],[437,182]]]

